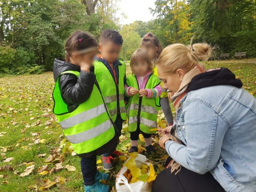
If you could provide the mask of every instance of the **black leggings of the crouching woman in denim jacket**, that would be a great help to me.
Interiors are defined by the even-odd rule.
[[[163,169],[152,183],[152,192],[225,192],[210,172],[198,174],[184,167],[175,175]]]

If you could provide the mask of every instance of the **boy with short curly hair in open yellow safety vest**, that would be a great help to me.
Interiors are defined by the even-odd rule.
[[[111,115],[118,136],[121,136],[122,122],[126,120],[125,111],[125,63],[118,59],[122,50],[122,36],[113,29],[105,29],[100,34],[100,56],[94,62],[95,75],[99,81],[102,95]],[[105,170],[112,170],[114,158],[123,156],[120,151],[102,155],[102,164]]]

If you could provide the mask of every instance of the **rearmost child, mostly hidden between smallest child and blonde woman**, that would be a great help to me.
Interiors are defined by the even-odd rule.
[[[154,64],[156,64],[155,62],[163,50],[158,38],[154,36],[154,34],[152,33],[145,34],[145,36],[141,40],[140,48],[147,50],[147,53],[149,54],[150,59]],[[154,75],[158,77],[156,67],[154,68]],[[162,94],[160,96],[161,108],[168,122],[168,126],[172,126],[173,117],[172,117],[172,111],[169,103],[172,97],[172,93],[168,92],[167,89],[163,88],[162,82],[161,82],[161,88],[162,88]]]

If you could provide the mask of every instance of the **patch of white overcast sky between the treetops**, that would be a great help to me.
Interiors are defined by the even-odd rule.
[[[130,24],[136,20],[149,21],[153,19],[149,7],[154,8],[155,0],[120,0],[120,11],[125,13],[127,18],[122,24]]]

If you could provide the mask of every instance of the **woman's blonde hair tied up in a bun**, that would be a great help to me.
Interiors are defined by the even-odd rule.
[[[212,53],[212,48],[207,43],[194,45],[173,44],[165,47],[157,59],[165,73],[174,74],[178,69],[189,72],[198,65],[199,60],[207,61]]]

